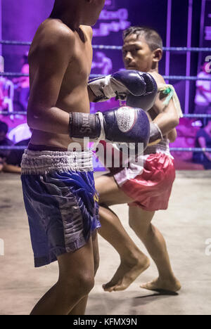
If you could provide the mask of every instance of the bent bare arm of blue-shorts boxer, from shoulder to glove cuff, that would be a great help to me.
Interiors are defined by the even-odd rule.
[[[69,133],[69,113],[57,108],[56,103],[74,47],[74,35],[65,29],[51,31],[40,44],[39,53],[34,58],[37,71],[30,86],[27,108],[27,123],[31,129]]]

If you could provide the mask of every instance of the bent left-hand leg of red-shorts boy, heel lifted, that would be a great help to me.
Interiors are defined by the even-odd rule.
[[[117,186],[113,176],[96,179],[96,191],[100,195],[101,229],[98,231],[120,254],[121,264],[112,280],[103,289],[112,292],[125,290],[150,265],[149,259],[129,238],[120,219],[108,208],[110,205],[124,204],[132,200]]]

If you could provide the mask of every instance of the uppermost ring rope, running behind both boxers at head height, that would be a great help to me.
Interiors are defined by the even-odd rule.
[[[12,41],[12,40],[0,40],[0,44],[11,46],[30,46],[30,41]],[[93,49],[110,49],[110,50],[122,50],[122,46],[106,46],[103,44],[94,44]],[[210,52],[211,48],[198,48],[198,47],[163,47],[164,51],[194,51],[194,52]]]

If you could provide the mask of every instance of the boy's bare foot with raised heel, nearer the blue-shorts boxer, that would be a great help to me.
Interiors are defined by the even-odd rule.
[[[122,260],[112,280],[106,285],[103,285],[103,289],[107,292],[125,290],[141,275],[141,273],[143,273],[143,271],[146,271],[149,266],[150,260],[146,256],[134,259],[134,263],[128,263]]]

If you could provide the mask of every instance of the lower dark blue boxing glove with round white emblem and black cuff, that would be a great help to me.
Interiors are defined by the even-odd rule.
[[[94,142],[143,143],[146,149],[150,138],[150,122],[146,112],[128,106],[94,115],[70,113],[70,138],[83,143],[84,137]]]

